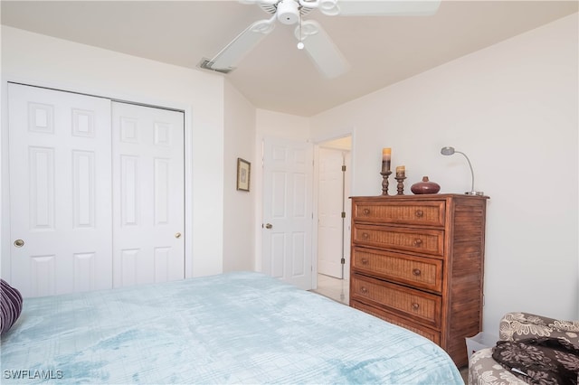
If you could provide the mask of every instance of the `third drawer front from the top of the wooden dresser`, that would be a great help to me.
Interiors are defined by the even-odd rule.
[[[441,259],[422,258],[364,248],[354,248],[352,267],[405,285],[442,291]]]

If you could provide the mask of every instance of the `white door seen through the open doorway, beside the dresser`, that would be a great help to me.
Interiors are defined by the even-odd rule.
[[[343,277],[345,217],[344,151],[318,151],[318,273]]]

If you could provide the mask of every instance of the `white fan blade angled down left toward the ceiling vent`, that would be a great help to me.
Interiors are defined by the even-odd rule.
[[[275,15],[252,23],[209,62],[212,70],[232,70],[275,27]]]

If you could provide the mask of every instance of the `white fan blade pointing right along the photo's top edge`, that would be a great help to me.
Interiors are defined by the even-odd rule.
[[[322,13],[340,16],[427,16],[435,14],[441,5],[441,0],[319,1]]]

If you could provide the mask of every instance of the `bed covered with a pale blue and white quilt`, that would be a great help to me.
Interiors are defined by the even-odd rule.
[[[422,336],[261,273],[24,298],[2,383],[463,384]]]

